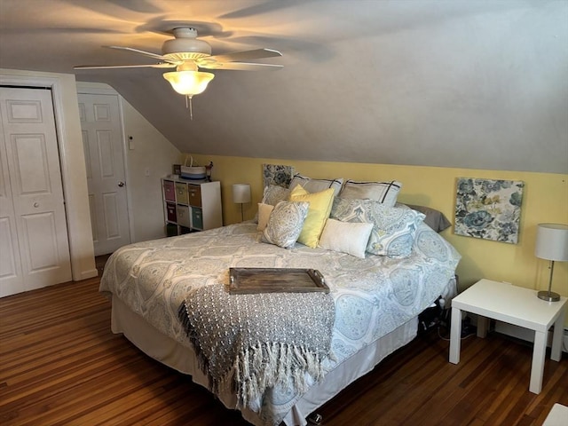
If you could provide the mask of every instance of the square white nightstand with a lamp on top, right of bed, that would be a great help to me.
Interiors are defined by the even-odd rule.
[[[540,393],[547,349],[548,329],[554,324],[550,359],[559,361],[562,355],[562,331],[566,312],[566,297],[558,302],[540,300],[536,290],[521,288],[492,280],[479,280],[452,300],[452,330],[450,332],[450,362],[460,362],[461,311],[477,314],[477,336],[485,337],[487,318],[498,319],[534,330],[533,365],[529,390]]]

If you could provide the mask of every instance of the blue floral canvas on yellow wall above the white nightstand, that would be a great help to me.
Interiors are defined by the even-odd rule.
[[[459,177],[454,233],[517,244],[524,186],[522,181]]]

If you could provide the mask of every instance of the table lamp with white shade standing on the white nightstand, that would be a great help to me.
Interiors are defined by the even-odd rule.
[[[550,277],[548,279],[548,290],[539,291],[539,299],[548,302],[557,302],[560,295],[551,291],[552,272],[554,263],[568,261],[568,225],[562,224],[539,224],[536,233],[536,245],[534,255],[540,259],[550,261]]]

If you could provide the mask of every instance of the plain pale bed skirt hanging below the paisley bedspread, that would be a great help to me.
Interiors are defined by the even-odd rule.
[[[334,370],[328,372],[321,383],[312,386],[302,398],[296,401],[294,406],[290,407],[284,422],[288,426],[304,426],[305,418],[319,406],[334,398],[337,393],[360,376],[366,375],[390,353],[413,340],[416,336],[417,325],[417,318],[410,319],[375,343],[353,354],[351,358],[345,359]],[[195,352],[189,341],[187,346],[184,346],[162,335],[138,314],[131,312],[117,297],[112,297],[111,329],[113,333],[124,335],[147,356],[185,375],[191,375],[194,383],[208,388],[208,378],[198,366]],[[219,399],[229,409],[233,409],[237,403],[235,395],[228,389],[220,391]],[[249,409],[241,410],[241,414],[248,422],[255,425],[262,424],[256,413]]]

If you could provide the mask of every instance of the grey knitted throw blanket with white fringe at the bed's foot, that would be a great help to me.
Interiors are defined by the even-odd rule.
[[[323,377],[335,308],[324,293],[229,295],[210,285],[188,296],[179,318],[211,390],[233,381],[237,404],[249,406],[275,383],[291,378],[303,393],[306,373],[315,382]]]

